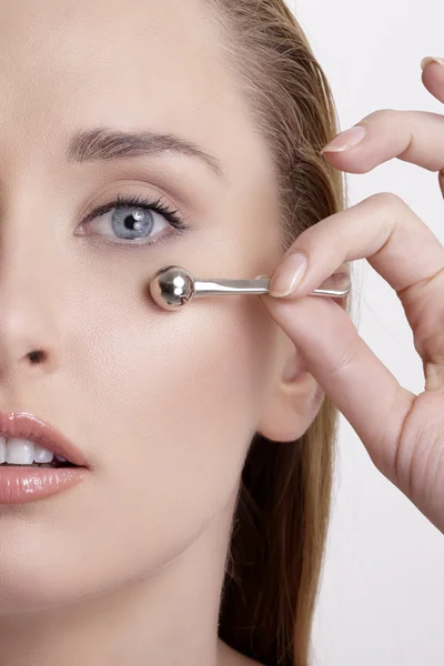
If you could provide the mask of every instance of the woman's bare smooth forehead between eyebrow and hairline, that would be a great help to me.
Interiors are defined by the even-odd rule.
[[[28,135],[67,120],[205,141],[239,113],[216,44],[201,0],[0,0],[0,132],[20,118]]]

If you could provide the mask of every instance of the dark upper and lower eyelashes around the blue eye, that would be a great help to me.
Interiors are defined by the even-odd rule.
[[[160,196],[158,200],[151,199],[150,196],[147,195],[142,195],[142,194],[135,194],[135,195],[131,195],[131,196],[127,196],[123,194],[118,194],[117,198],[113,201],[110,201],[109,203],[105,203],[103,205],[100,205],[98,208],[95,208],[93,211],[91,211],[91,213],[89,213],[82,221],[82,225],[83,224],[88,224],[89,222],[91,222],[92,220],[94,220],[95,218],[99,218],[100,215],[104,215],[105,213],[108,213],[109,211],[112,211],[117,208],[121,208],[121,206],[137,206],[137,208],[141,208],[143,210],[151,210],[154,211],[155,213],[159,213],[160,215],[162,215],[179,233],[183,233],[184,231],[186,231],[189,229],[189,225],[184,223],[184,221],[176,214],[178,211],[170,209],[167,204],[162,203],[162,198]],[[155,243],[157,241],[152,240],[148,240],[148,241],[143,241],[143,240],[123,240],[123,239],[118,239],[117,241],[110,241],[108,240],[105,236],[100,236],[100,239],[104,242],[110,242],[113,245],[150,245]]]

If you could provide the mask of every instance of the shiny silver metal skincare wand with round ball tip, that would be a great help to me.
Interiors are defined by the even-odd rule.
[[[195,279],[180,266],[165,266],[158,271],[150,281],[150,292],[154,302],[164,310],[178,310],[193,299],[203,296],[232,296],[238,294],[266,294],[269,293],[270,279],[256,280],[225,280]],[[334,273],[320,289],[310,295],[343,299],[351,289],[347,273]]]

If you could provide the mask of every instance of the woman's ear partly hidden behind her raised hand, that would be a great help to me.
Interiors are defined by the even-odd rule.
[[[333,300],[345,309],[346,299]],[[282,329],[280,333],[275,377],[256,431],[273,442],[291,442],[313,423],[325,393],[294,343]]]

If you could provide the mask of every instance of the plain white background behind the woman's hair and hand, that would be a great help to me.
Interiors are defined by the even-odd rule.
[[[289,4],[330,80],[341,130],[376,109],[444,113],[420,68],[424,56],[444,57],[444,2]],[[393,159],[370,173],[347,174],[347,181],[350,205],[394,192],[444,243],[437,173]],[[400,301],[366,260],[353,270],[353,321],[361,336],[403,386],[421,393],[422,362]],[[340,423],[313,666],[443,666],[444,537],[375,468],[342,414]]]

